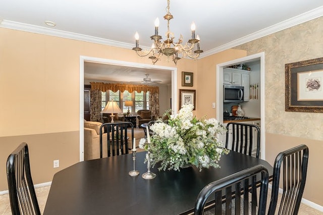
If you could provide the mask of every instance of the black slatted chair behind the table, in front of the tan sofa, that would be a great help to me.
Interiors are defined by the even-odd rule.
[[[107,133],[106,142],[103,142],[103,132]],[[128,132],[131,131],[131,135]],[[107,151],[107,156],[115,156],[129,153],[129,138],[131,147],[133,147],[133,124],[131,122],[104,123],[100,127],[100,158],[103,157],[103,151]]]

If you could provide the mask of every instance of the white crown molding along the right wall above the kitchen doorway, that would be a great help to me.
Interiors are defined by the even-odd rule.
[[[210,49],[208,51],[205,51],[205,52],[201,53],[200,58],[205,58],[207,56],[213,55],[214,53],[218,53],[220,51],[227,50],[229,48],[244,44],[246,42],[250,42],[252,40],[255,40],[255,39],[270,35],[272,33],[275,33],[275,32],[278,32],[278,31],[293,27],[295,25],[299,25],[301,23],[316,19],[316,18],[321,17],[321,16],[323,16],[323,6],[321,6],[319,8],[316,8],[314,10],[311,10],[309,12],[300,14],[298,16],[292,17],[292,18],[290,18],[288,20],[285,20],[283,22],[277,23],[277,24],[272,25],[270,27],[261,29],[259,31],[256,31],[256,32],[252,33],[252,34],[249,34],[247,36],[244,36],[244,37],[241,37],[239,39],[233,40],[233,41],[228,42],[228,43],[226,43],[224,45],[220,45],[220,46],[218,46],[216,48],[212,48],[212,49]]]

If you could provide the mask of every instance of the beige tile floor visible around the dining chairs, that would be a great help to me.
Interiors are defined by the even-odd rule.
[[[50,186],[44,186],[44,187],[39,187],[39,188],[35,189],[41,213],[43,212],[43,210],[45,208],[49,188],[50,188]],[[267,207],[268,206],[269,206],[269,204],[267,204]],[[9,194],[0,195],[0,214],[1,215],[10,215],[11,214]],[[323,214],[323,212],[317,211],[305,204],[301,204],[298,214],[299,215],[309,215],[309,214],[314,215],[314,214]]]

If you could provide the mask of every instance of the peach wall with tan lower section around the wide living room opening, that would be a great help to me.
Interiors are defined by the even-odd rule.
[[[7,157],[22,141],[36,184],[79,161],[80,56],[151,65],[131,49],[0,28],[0,191],[8,189]],[[156,65],[175,67],[165,59]],[[181,71],[196,77],[196,61],[182,59],[177,68],[179,87]]]

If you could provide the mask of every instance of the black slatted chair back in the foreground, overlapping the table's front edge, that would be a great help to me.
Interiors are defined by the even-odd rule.
[[[257,192],[253,178],[257,174],[261,174],[259,202],[254,198]],[[251,199],[250,191],[255,192]],[[195,201],[194,214],[265,214],[267,191],[268,171],[257,165],[206,185]]]

